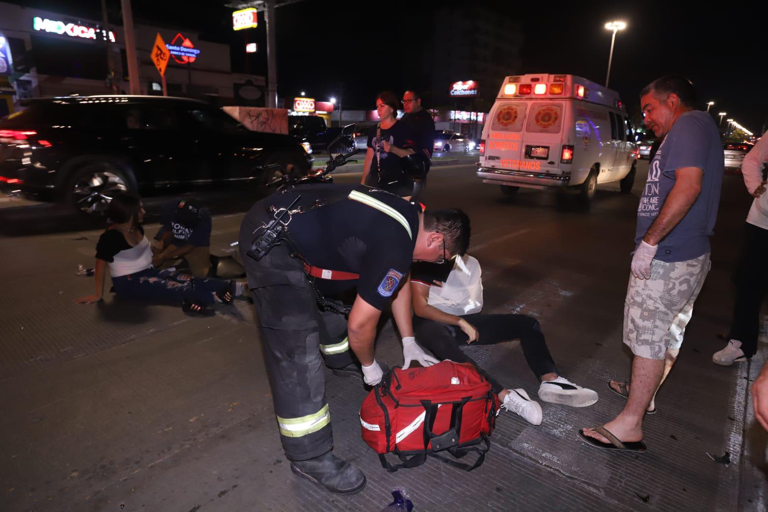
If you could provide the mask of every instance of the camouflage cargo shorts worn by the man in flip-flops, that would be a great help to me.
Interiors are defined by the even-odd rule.
[[[624,343],[634,355],[664,359],[667,348],[683,345],[685,327],[710,266],[707,253],[676,263],[654,259],[650,279],[630,275],[624,300]]]

